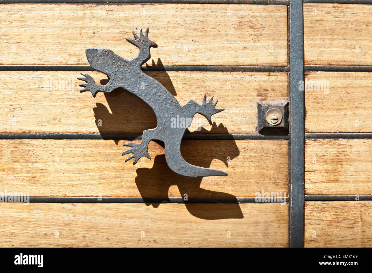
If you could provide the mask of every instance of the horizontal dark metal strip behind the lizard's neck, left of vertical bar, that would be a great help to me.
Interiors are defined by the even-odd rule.
[[[0,65],[0,71],[92,71],[90,65]],[[288,72],[286,66],[148,65],[144,71]]]

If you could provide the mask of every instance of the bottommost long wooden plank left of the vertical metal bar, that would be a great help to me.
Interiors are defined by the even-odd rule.
[[[6,211],[2,213],[3,221],[0,222],[0,246],[287,246],[287,205],[188,206],[160,204],[153,208],[145,204],[0,203],[0,209]],[[229,218],[221,219],[221,214]],[[206,216],[215,220],[203,219]]]

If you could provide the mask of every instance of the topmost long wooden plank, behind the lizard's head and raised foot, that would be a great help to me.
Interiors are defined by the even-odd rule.
[[[0,64],[85,65],[87,48],[131,59],[140,27],[164,65],[287,65],[287,6],[231,4],[6,4]]]

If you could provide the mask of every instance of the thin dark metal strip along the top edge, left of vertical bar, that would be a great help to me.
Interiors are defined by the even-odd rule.
[[[260,4],[288,5],[286,0],[0,0],[0,3],[112,3],[112,4]]]

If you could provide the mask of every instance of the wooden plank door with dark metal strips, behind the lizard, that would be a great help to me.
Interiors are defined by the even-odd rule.
[[[371,5],[4,2],[0,246],[371,246]],[[124,162],[153,111],[79,92],[81,72],[107,80],[85,50],[132,59],[140,27],[158,45],[146,74],[181,105],[206,94],[225,109],[212,125],[197,114],[181,152],[228,176],[178,175],[154,141],[151,160]],[[281,100],[289,134],[259,134],[257,102]]]

